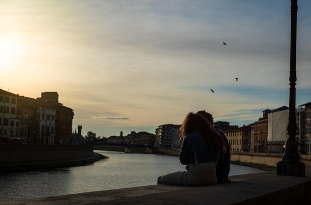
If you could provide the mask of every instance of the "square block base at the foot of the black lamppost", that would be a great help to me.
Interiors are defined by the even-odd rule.
[[[305,176],[306,165],[302,162],[277,162],[276,175]]]

